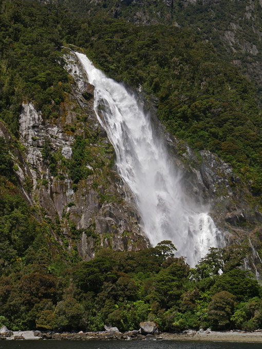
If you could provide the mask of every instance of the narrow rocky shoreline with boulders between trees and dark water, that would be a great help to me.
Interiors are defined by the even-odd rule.
[[[148,324],[148,322],[147,322]],[[154,326],[153,326],[154,328]],[[149,330],[148,330],[149,331]],[[8,331],[0,334],[0,340],[174,340],[174,341],[226,341],[226,342],[262,342],[262,329],[255,332],[245,331],[194,331],[189,329],[183,333],[159,333],[156,327],[146,333],[141,327],[139,330],[121,333],[117,327],[108,328],[103,332],[55,333],[40,331]],[[158,332],[155,333],[154,332]]]

